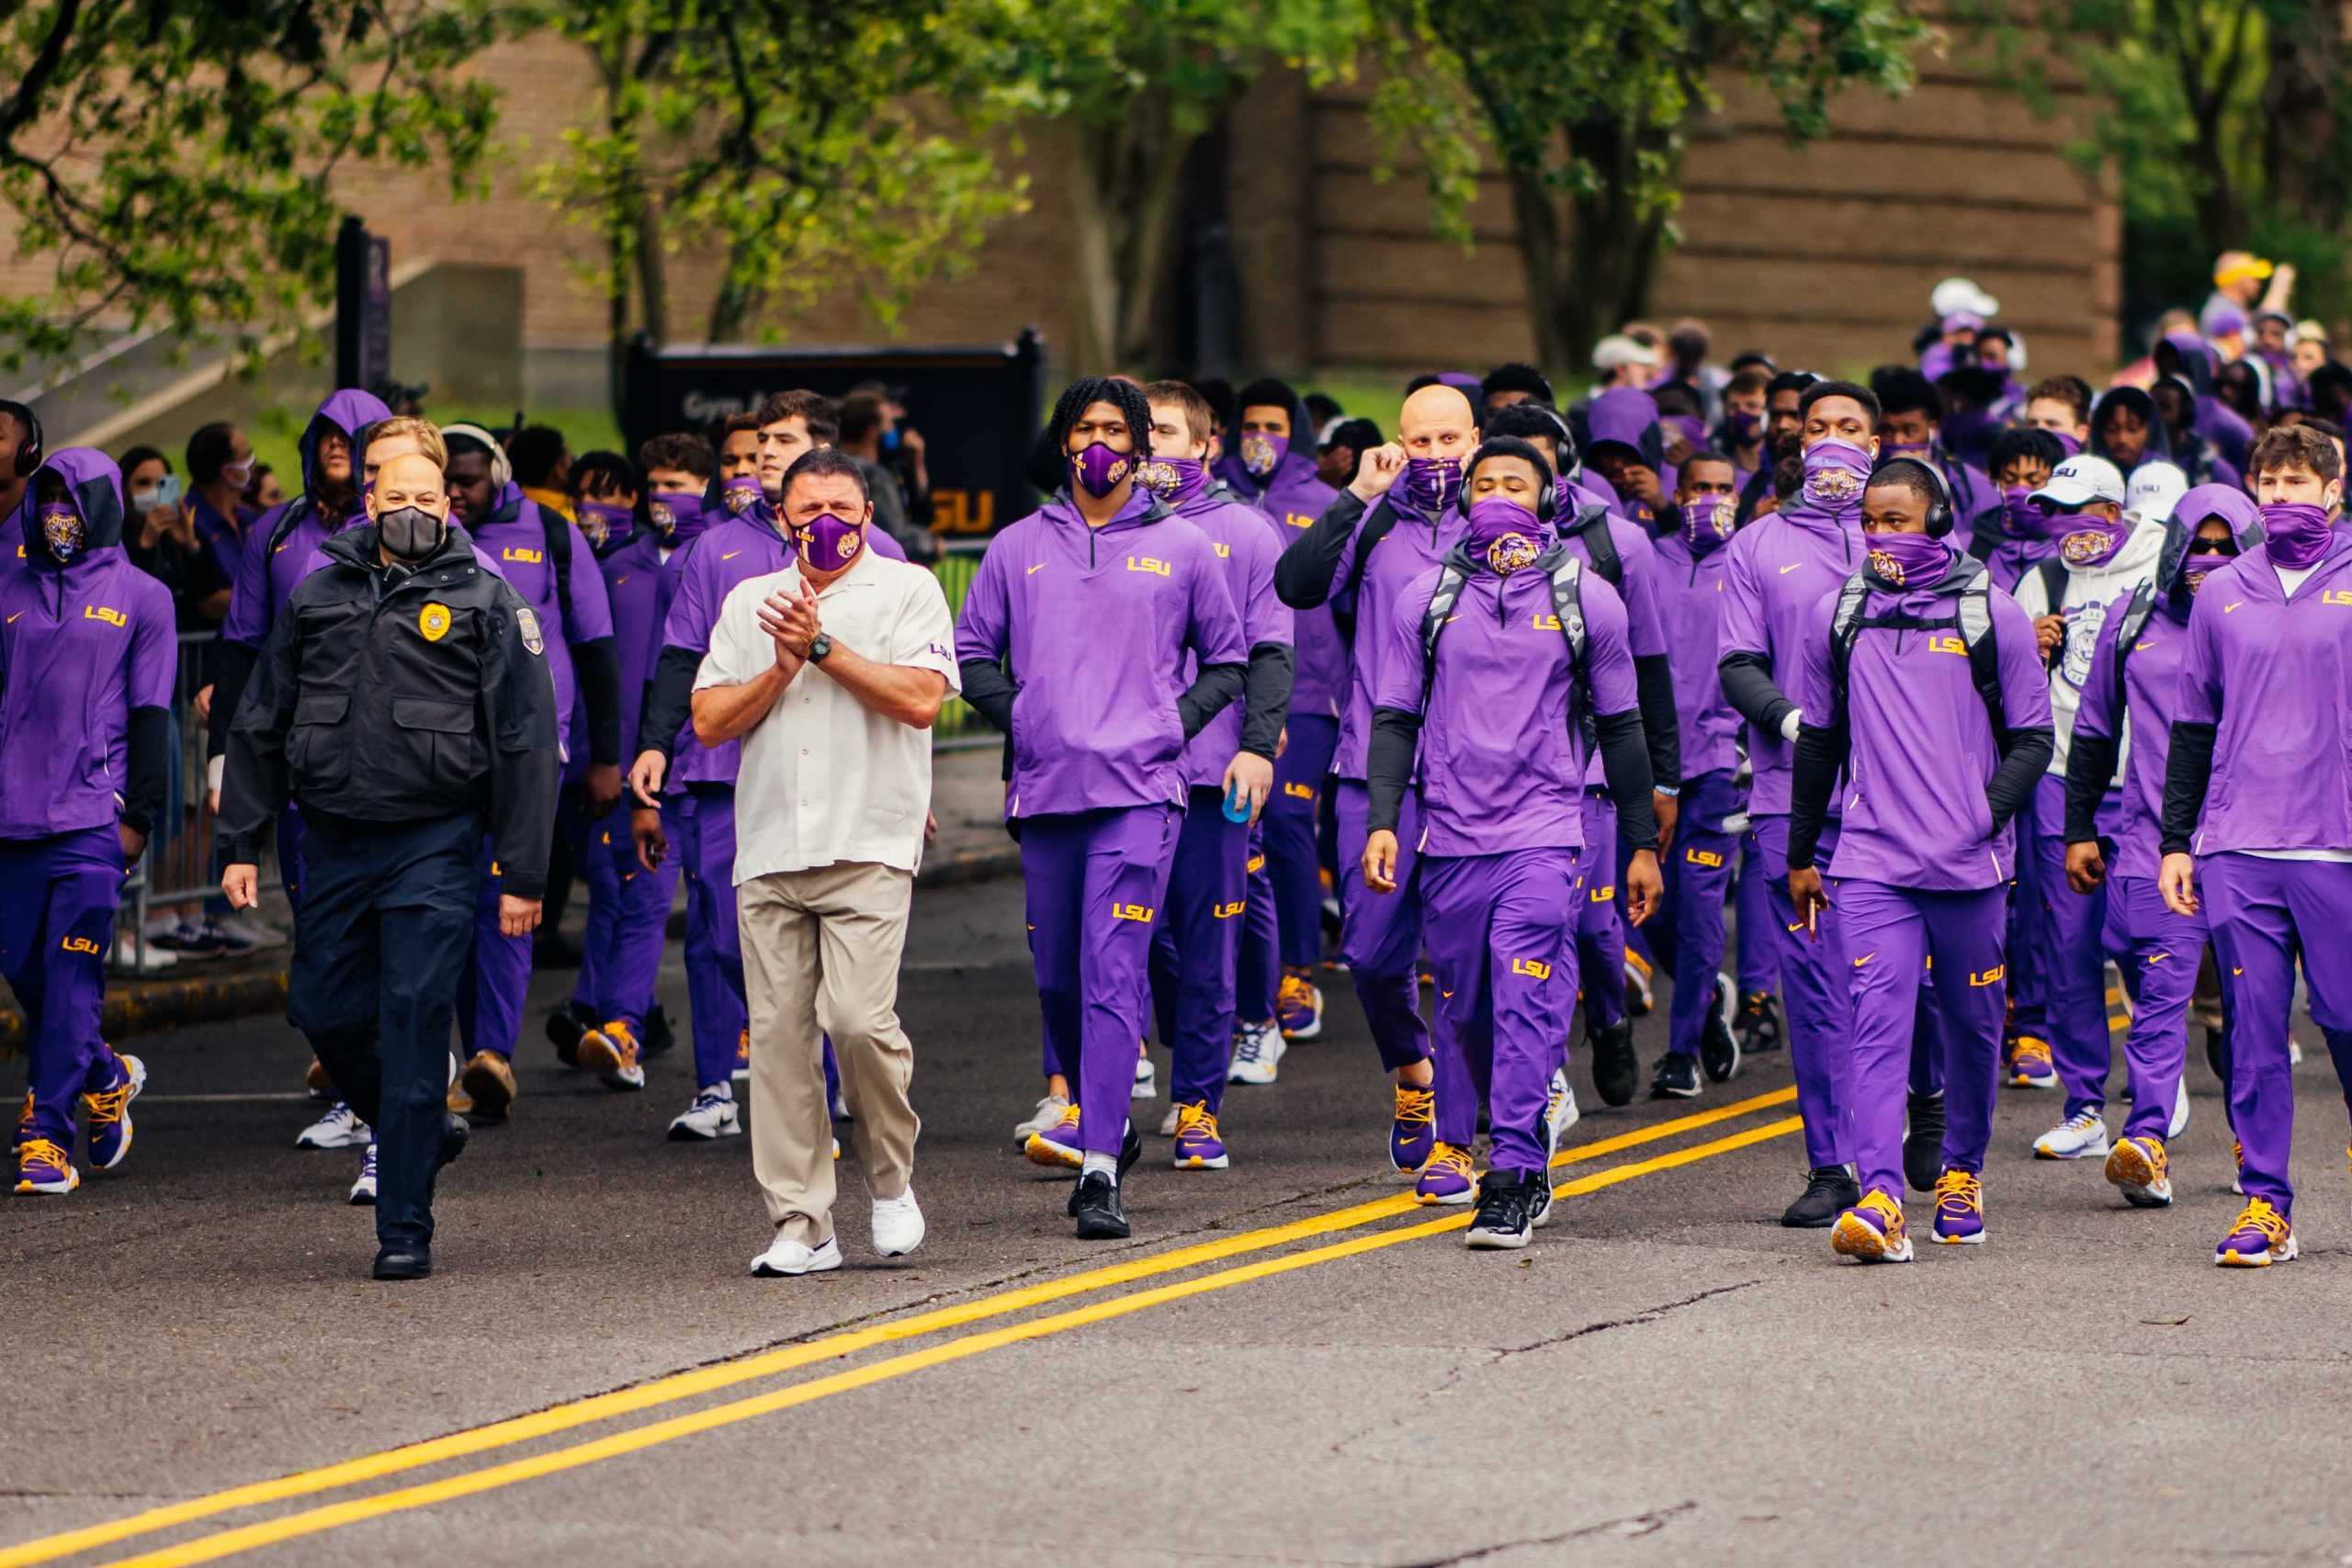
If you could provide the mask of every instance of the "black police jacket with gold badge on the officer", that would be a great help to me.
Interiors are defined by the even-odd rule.
[[[336,534],[270,628],[228,726],[219,846],[254,860],[292,795],[353,823],[485,811],[506,891],[539,898],[555,835],[555,682],[532,609],[463,529],[414,571]]]

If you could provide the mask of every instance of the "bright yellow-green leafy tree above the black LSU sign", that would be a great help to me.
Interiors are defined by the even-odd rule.
[[[993,0],[567,0],[539,16],[595,61],[595,115],[536,188],[597,230],[614,348],[673,334],[666,259],[720,261],[713,343],[851,284],[884,322],[1025,205],[997,132]]]

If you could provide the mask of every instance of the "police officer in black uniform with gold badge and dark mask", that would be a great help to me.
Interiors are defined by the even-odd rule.
[[[367,494],[270,628],[228,731],[221,891],[254,903],[254,842],[301,802],[289,1013],[376,1128],[376,1279],[433,1272],[433,1178],[466,1147],[445,1107],[485,820],[499,926],[539,926],[555,832],[555,684],[536,616],[449,524],[426,456]]]

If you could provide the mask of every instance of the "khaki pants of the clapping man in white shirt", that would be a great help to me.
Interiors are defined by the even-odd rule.
[[[736,889],[750,1001],[750,1168],[779,1237],[833,1237],[826,1046],[856,1110],[849,1140],[877,1199],[906,1194],[922,1121],[908,1103],[915,1046],[898,1027],[898,954],[913,872],[849,863]]]

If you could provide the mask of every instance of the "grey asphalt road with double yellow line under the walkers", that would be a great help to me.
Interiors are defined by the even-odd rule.
[[[1327,1039],[1232,1088],[1235,1166],[1145,1164],[1134,1241],[1080,1244],[1009,1147],[1018,884],[924,893],[915,926],[931,1234],[880,1265],[844,1159],[849,1265],[818,1279],[746,1274],[748,1145],[663,1140],[675,1056],[616,1095],[524,1041],[513,1124],[442,1182],[440,1274],[379,1286],[355,1157],[292,1147],[301,1039],[136,1041],[132,1159],[0,1204],[0,1568],[2352,1561],[2324,1051],[2303,1260],[2260,1274],[2209,1262],[2234,1199],[2201,1053],[2166,1213],[2030,1159],[2058,1098],[2004,1091],[1987,1246],[1837,1262],[1773,1222],[1799,1152],[1766,1056],[1698,1103],[1606,1112],[1581,1079],[1555,1222],[1468,1253],[1463,1211],[1397,1199],[1334,976]]]

